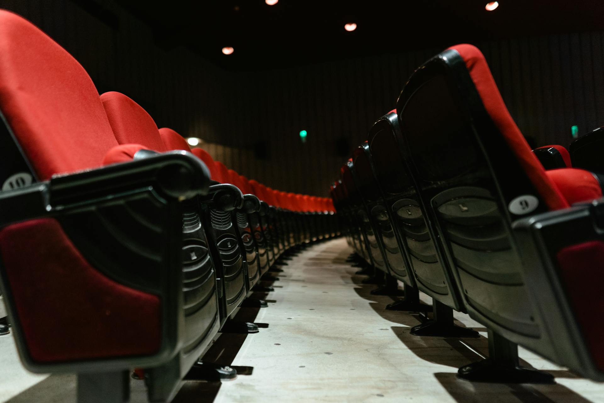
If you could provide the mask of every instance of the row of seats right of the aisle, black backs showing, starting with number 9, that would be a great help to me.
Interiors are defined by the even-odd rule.
[[[362,272],[383,283],[374,293],[404,284],[387,309],[432,311],[411,334],[479,337],[454,311],[486,327],[489,356],[460,378],[554,382],[520,366],[519,344],[604,380],[602,183],[551,149],[562,164],[546,170],[483,54],[457,45],[413,73],[331,187]]]

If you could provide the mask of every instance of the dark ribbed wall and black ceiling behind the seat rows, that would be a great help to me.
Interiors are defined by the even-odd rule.
[[[124,92],[249,178],[313,195],[327,195],[413,70],[459,42],[483,51],[536,146],[604,125],[604,2],[484,4],[0,1],[63,45],[100,92]]]

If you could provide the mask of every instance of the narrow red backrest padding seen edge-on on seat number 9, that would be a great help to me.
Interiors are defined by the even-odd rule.
[[[528,146],[527,141],[510,116],[510,112],[507,111],[506,104],[501,98],[489,66],[480,50],[467,44],[455,45],[449,49],[457,51],[466,63],[467,71],[472,77],[484,108],[504,136],[510,149],[516,154],[518,162],[524,168],[528,178],[550,210],[568,207],[565,198],[545,175],[545,169]]]

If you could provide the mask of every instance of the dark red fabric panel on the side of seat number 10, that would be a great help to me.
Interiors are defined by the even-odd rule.
[[[149,355],[159,297],[95,270],[51,218],[9,225],[0,251],[31,358],[39,363]]]

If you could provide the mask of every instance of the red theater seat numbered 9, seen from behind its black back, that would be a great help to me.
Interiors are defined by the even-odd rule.
[[[396,109],[406,160],[433,224],[429,229],[440,239],[464,306],[489,331],[489,358],[462,367],[458,376],[553,382],[548,373],[519,367],[516,343],[574,371],[601,376],[584,359],[588,340],[568,336],[588,330],[568,318],[572,296],[546,279],[566,280],[544,269],[556,262],[561,243],[583,242],[594,236],[594,225],[577,226],[554,241],[535,240],[556,223],[548,214],[590,216],[591,200],[601,195],[591,173],[546,173],[472,45],[449,48],[417,69]],[[568,208],[577,201],[591,207]]]

